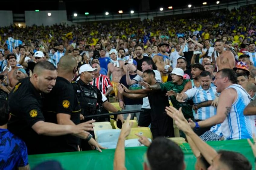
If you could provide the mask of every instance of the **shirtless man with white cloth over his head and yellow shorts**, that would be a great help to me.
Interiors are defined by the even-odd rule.
[[[124,65],[123,60],[118,60],[117,50],[111,49],[109,51],[110,63],[107,64],[107,76],[111,79],[111,84],[113,85],[113,90],[117,99],[117,84],[120,82],[120,79],[124,74],[126,74],[126,66]],[[110,78],[112,74],[112,78]]]

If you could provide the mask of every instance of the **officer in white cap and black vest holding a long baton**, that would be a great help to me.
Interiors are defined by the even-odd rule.
[[[90,82],[94,78],[94,71],[96,68],[92,68],[89,64],[84,64],[80,67],[79,74],[80,79],[73,83],[73,88],[77,94],[82,114],[80,114],[80,120],[82,122],[91,120],[84,116],[95,115],[101,113],[102,107],[110,112],[118,112],[118,110],[107,101],[107,97],[96,87],[92,86]],[[109,121],[109,116],[106,117],[95,117],[97,121]],[[117,115],[117,120],[123,122],[123,115]],[[82,150],[87,150],[88,146],[84,140],[82,140]]]

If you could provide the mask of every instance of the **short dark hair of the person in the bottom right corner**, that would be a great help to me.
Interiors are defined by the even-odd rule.
[[[219,150],[220,155],[219,161],[227,165],[230,170],[243,169],[251,170],[252,166],[248,159],[238,152]]]

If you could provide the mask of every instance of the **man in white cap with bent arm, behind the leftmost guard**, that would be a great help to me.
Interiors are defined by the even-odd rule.
[[[42,51],[37,51],[37,52],[35,52],[35,54],[34,54],[35,62],[28,62],[28,63],[27,63],[27,62],[24,61],[24,60],[25,60],[25,57],[26,57],[26,55],[23,55],[23,56],[20,58],[19,64],[22,65],[22,66],[24,66],[24,67],[26,67],[26,68],[28,68],[28,69],[31,70],[32,72],[33,72],[34,67],[35,67],[35,65],[36,65],[37,62],[46,60],[46,58],[45,58],[45,56],[44,56],[44,54],[43,54]]]

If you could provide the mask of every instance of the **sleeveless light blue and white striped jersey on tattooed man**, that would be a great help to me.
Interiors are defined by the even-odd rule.
[[[228,88],[235,89],[237,99],[221,124],[223,137],[225,140],[252,138],[251,119],[243,113],[245,107],[251,102],[251,97],[241,85],[233,84],[226,89]]]

